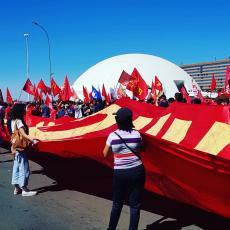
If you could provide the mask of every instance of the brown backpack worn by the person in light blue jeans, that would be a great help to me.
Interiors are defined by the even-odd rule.
[[[14,151],[19,150],[23,151],[30,147],[30,141],[23,137],[20,133],[19,129],[17,128],[17,120],[15,120],[14,124],[14,132],[11,135],[11,147]]]

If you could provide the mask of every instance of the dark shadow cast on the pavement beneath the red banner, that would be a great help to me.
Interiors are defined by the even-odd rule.
[[[55,180],[49,186],[38,188],[39,193],[69,189],[112,199],[112,170],[96,161],[59,158],[40,152],[30,154],[30,159],[43,167],[42,170],[32,171],[33,174],[44,174]],[[144,193],[142,209],[163,216],[148,223],[146,230],[177,230],[190,225],[207,230],[230,229],[229,219],[148,191]]]

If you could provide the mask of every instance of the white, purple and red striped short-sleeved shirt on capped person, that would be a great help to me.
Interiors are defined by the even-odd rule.
[[[142,138],[137,130],[131,132],[116,130],[125,143],[136,153],[139,152]],[[124,142],[114,133],[110,133],[106,144],[112,148],[114,153],[114,169],[128,169],[141,165],[141,160],[128,149]]]

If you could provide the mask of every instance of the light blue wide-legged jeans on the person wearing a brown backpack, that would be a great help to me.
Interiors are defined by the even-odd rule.
[[[12,185],[18,185],[20,188],[28,185],[30,176],[29,161],[26,152],[15,153],[12,172]]]

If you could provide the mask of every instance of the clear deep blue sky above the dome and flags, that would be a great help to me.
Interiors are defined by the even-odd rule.
[[[14,99],[26,81],[49,82],[49,34],[55,80],[71,84],[106,58],[145,53],[175,64],[230,56],[230,2],[226,0],[0,0],[0,88]],[[23,93],[25,94],[25,93]]]

